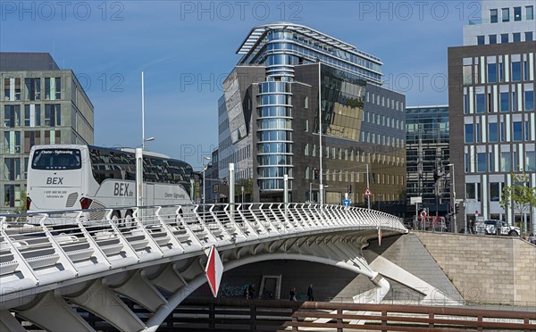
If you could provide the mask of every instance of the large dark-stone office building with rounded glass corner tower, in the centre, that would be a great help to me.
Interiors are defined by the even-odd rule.
[[[284,175],[290,202],[319,202],[322,177],[325,203],[363,206],[368,165],[372,201],[405,202],[405,96],[381,87],[380,59],[285,22],[252,29],[237,53],[218,103],[221,177],[233,162],[254,202],[281,202]]]

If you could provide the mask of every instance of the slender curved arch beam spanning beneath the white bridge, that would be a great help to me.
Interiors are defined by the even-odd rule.
[[[376,298],[374,299],[377,303],[380,303],[381,300],[389,292],[389,282],[382,278],[381,275],[377,272],[371,270],[363,270],[361,267],[348,264],[345,261],[336,261],[330,258],[318,257],[314,255],[304,255],[300,253],[264,253],[256,256],[248,256],[236,261],[227,261],[223,267],[224,271],[233,270],[239,268],[242,265],[247,265],[250,263],[258,261],[273,261],[273,260],[295,260],[295,261],[313,261],[321,264],[331,265],[338,267],[344,270],[350,270],[358,274],[363,274],[364,276],[371,279],[374,285],[378,286],[380,289],[376,291]],[[199,286],[202,286],[206,282],[205,274],[197,275],[196,278],[193,278],[188,282],[188,286],[180,288],[178,292],[173,294],[169,299],[168,303],[158,308],[153,316],[147,320],[147,328],[142,329],[144,332],[155,332],[157,328],[163,323],[172,311],[188,297],[192,292],[194,292]]]

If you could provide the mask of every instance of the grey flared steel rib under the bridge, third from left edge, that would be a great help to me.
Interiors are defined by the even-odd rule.
[[[80,295],[70,297],[71,303],[95,313],[122,331],[138,331],[146,328],[145,324],[118,295],[105,284],[102,278],[88,286]]]

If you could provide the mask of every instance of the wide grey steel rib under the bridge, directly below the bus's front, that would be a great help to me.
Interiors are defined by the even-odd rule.
[[[57,291],[48,291],[29,309],[18,313],[48,331],[95,331]]]

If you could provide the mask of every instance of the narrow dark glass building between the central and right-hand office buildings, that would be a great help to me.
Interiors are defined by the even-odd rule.
[[[419,209],[431,216],[449,212],[448,137],[448,105],[406,107],[408,216],[415,215],[411,197],[422,197]]]

